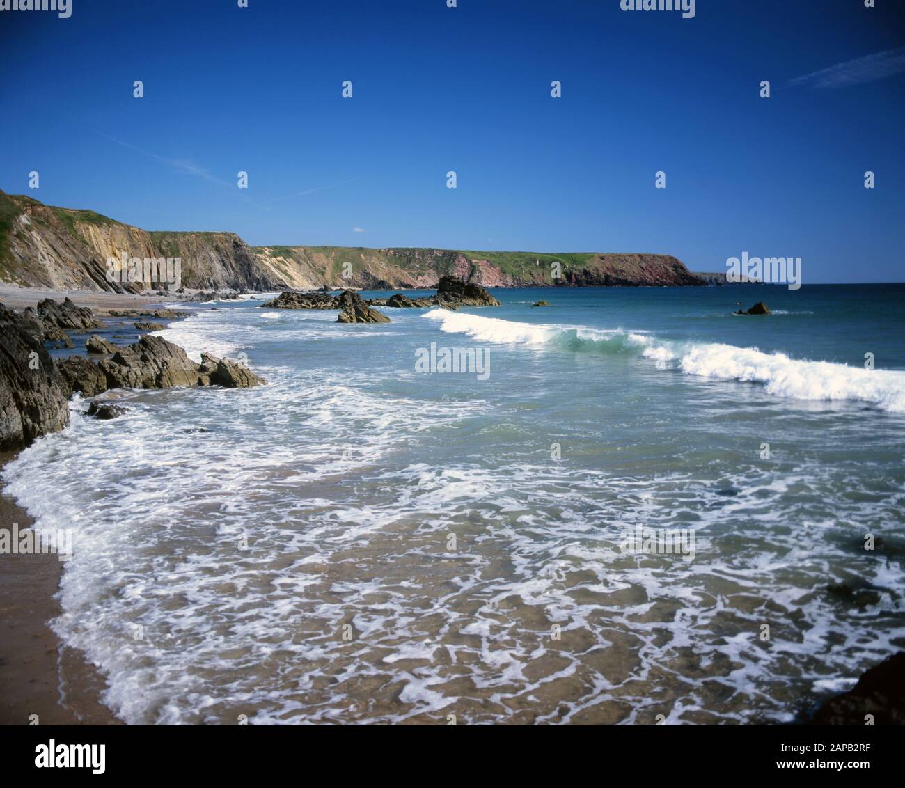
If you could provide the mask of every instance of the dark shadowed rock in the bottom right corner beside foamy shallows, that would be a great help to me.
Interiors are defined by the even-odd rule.
[[[824,701],[812,725],[905,725],[905,651],[866,671],[848,692]]]

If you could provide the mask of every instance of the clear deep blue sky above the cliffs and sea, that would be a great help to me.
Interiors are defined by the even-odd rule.
[[[747,251],[800,256],[805,284],[905,280],[898,2],[71,2],[0,13],[6,192],[254,245],[697,271]]]

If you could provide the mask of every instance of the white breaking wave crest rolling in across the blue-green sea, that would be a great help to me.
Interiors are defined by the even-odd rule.
[[[766,387],[767,393],[778,397],[861,401],[884,411],[905,413],[905,372],[899,370],[868,370],[794,359],[783,353],[764,353],[757,347],[671,342],[622,330],[539,326],[445,309],[433,309],[424,317],[439,321],[443,331],[462,333],[483,342],[567,347],[600,353],[621,353],[636,348],[641,356],[663,366],[674,362],[688,375],[759,383]]]

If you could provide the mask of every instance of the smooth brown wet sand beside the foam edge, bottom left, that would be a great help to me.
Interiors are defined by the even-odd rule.
[[[14,454],[0,454],[0,469]],[[33,523],[0,489],[0,528]],[[50,553],[0,555],[0,725],[114,725],[100,703],[100,674],[66,648],[49,622],[60,614],[55,594],[62,562]]]

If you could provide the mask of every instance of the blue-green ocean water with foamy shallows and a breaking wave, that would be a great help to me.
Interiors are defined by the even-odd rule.
[[[495,295],[202,307],[162,336],[266,386],[75,402],[6,467],[120,718],[786,722],[905,647],[905,287]]]

